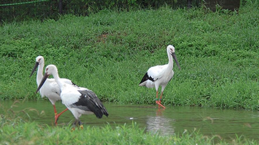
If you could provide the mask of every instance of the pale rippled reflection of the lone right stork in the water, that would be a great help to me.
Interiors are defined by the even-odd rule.
[[[159,133],[159,135],[174,135],[174,119],[163,116],[164,109],[158,109],[156,116],[147,116],[147,132]]]

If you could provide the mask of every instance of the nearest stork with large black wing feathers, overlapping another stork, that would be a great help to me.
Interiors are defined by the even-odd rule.
[[[73,86],[71,84],[66,84],[59,78],[58,69],[54,65],[48,65],[45,70],[45,74],[37,88],[36,93],[40,90],[49,75],[53,75],[55,81],[59,85],[61,90],[60,97],[62,103],[72,112],[75,117],[76,125],[78,121],[79,126],[83,129],[83,125],[79,120],[82,114],[95,114],[97,118],[102,118],[103,114],[108,117],[108,112],[105,109],[102,102],[96,96],[96,94],[83,87]],[[72,131],[73,131],[72,130]]]

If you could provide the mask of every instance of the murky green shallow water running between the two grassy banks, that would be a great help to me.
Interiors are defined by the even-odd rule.
[[[9,109],[14,101],[0,101],[5,109]],[[37,115],[34,111],[27,111],[32,121],[52,125],[54,122],[54,109],[48,100],[25,101],[16,104],[13,110],[23,110],[31,107],[44,115]],[[104,104],[109,112],[109,117],[104,116],[97,119],[95,115],[83,115],[80,121],[84,125],[98,125],[110,123],[111,125],[138,123],[140,128],[146,128],[148,132],[160,130],[162,135],[182,134],[185,129],[188,131],[200,130],[204,135],[220,135],[224,139],[233,139],[238,136],[245,136],[249,139],[259,141],[259,112],[235,109],[212,109],[200,107],[168,107],[158,109],[157,105],[118,105]],[[61,102],[56,102],[58,112],[66,109]],[[2,110],[0,110],[2,111]],[[2,114],[2,112],[0,112]],[[23,113],[21,114],[23,115]],[[26,115],[26,114],[25,114]],[[72,123],[74,117],[70,111],[66,111],[59,117],[59,124]]]

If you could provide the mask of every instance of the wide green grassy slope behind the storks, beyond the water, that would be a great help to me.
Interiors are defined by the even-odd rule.
[[[164,105],[258,110],[258,17],[258,1],[248,1],[239,13],[163,7],[5,23],[0,98],[40,99],[36,75],[29,75],[42,55],[60,77],[104,102],[154,104],[155,89],[138,84],[149,67],[168,63],[166,47],[172,44],[182,70],[174,67]]]

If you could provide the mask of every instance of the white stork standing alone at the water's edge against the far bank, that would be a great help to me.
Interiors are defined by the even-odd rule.
[[[161,105],[162,94],[163,94],[164,88],[174,76],[173,58],[177,66],[181,70],[181,67],[176,58],[176,54],[174,52],[174,46],[172,45],[167,46],[167,55],[168,55],[169,63],[163,66],[153,66],[149,68],[147,70],[147,73],[144,75],[143,79],[139,83],[139,86],[146,86],[147,88],[154,88],[154,87],[156,88],[156,91],[157,91],[156,103],[158,104],[159,108],[160,106],[165,108],[163,105]],[[158,100],[159,86],[162,86],[162,90],[161,90],[160,99]]]

